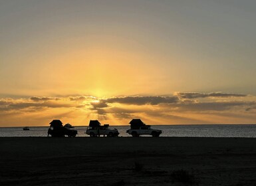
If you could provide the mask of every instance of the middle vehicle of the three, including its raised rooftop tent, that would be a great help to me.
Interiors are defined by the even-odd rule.
[[[108,124],[104,124],[104,126],[101,126],[98,120],[90,120],[89,126],[86,129],[85,134],[90,135],[90,137],[100,137],[100,135],[108,137],[117,137],[119,134],[118,130],[109,129],[108,127]]]

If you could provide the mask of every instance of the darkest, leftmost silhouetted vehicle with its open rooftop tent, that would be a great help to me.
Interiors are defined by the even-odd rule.
[[[48,130],[48,136],[51,135],[51,137],[75,137],[76,134],[77,130],[74,130],[73,127],[68,128],[63,126],[61,120],[53,120],[53,122],[50,123],[50,128]]]

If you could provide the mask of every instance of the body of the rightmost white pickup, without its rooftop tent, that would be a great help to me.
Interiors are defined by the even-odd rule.
[[[162,130],[152,129],[150,126],[141,126],[138,129],[127,130],[126,133],[131,134],[132,137],[139,137],[140,135],[151,135],[152,137],[159,137]]]

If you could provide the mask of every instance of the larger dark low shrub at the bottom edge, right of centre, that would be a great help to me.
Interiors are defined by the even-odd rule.
[[[188,171],[181,169],[173,171],[171,174],[172,182],[180,182],[189,185],[197,185],[198,181],[195,179],[195,175],[190,174]]]

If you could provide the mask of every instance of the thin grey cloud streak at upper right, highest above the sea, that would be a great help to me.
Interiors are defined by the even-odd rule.
[[[233,94],[233,93],[222,93],[222,92],[211,92],[211,93],[200,93],[200,92],[177,92],[177,96],[180,98],[193,99],[193,98],[229,98],[229,97],[245,97],[246,94]]]

